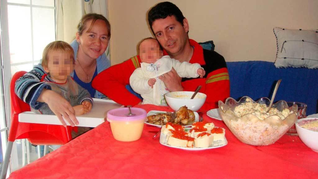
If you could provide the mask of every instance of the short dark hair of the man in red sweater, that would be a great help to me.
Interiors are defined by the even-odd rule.
[[[150,9],[148,12],[148,23],[152,33],[156,36],[152,29],[152,23],[157,19],[164,19],[168,16],[175,16],[176,20],[183,25],[183,19],[185,18],[180,9],[173,3],[162,2]]]

